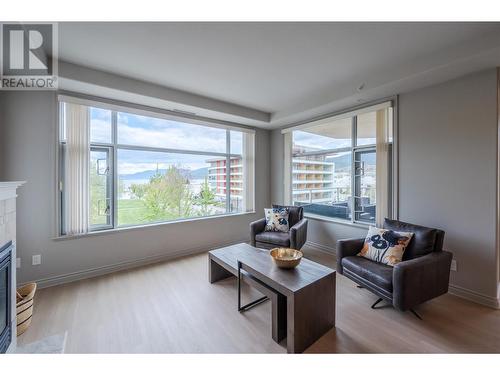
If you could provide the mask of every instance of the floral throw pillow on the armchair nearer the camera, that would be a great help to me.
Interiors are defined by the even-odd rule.
[[[403,253],[412,237],[413,233],[396,232],[370,226],[363,249],[358,256],[394,266],[403,259]]]

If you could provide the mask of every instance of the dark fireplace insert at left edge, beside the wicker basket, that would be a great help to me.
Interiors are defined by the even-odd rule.
[[[12,341],[11,272],[12,241],[0,248],[0,353],[5,353]]]

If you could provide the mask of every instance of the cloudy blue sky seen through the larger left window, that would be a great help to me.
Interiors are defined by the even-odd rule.
[[[92,142],[111,141],[111,111],[91,108]],[[204,152],[226,152],[226,130],[181,123],[129,113],[118,113],[118,143]],[[231,152],[240,154],[242,133],[231,131]],[[161,152],[118,150],[118,174],[166,169],[170,165],[187,169],[207,167],[213,156],[165,154]]]

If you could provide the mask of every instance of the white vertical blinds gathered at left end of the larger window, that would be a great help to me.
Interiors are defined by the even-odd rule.
[[[89,110],[80,104],[65,106],[65,230],[68,235],[82,234],[89,229]]]

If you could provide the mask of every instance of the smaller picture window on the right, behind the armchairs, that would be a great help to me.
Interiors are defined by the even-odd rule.
[[[285,129],[287,203],[352,223],[391,217],[393,117],[386,102]]]

